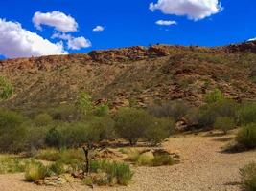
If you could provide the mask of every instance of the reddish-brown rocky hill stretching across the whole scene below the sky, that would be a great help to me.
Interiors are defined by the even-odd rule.
[[[226,96],[256,99],[256,41],[226,47],[154,45],[0,61],[14,86],[9,107],[73,102],[79,91],[112,107],[184,99],[199,105],[220,88]]]

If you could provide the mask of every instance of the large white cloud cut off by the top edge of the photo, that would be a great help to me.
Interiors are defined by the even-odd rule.
[[[186,15],[189,19],[200,20],[220,12],[223,8],[219,0],[158,0],[150,4],[150,10],[160,10],[165,14]]]

